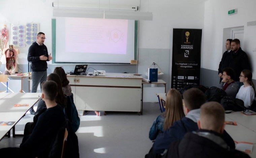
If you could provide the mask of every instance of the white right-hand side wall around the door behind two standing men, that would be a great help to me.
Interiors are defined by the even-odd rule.
[[[202,68],[218,70],[222,57],[223,29],[244,26],[244,45],[241,47],[249,56],[253,79],[256,79],[256,26],[247,27],[247,22],[256,21],[255,0],[208,0],[204,5],[204,31]],[[237,14],[228,15],[228,10],[237,8]],[[217,75],[217,74],[216,74]]]

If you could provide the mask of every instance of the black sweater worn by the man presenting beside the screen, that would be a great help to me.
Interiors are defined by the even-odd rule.
[[[31,70],[34,72],[47,70],[47,62],[40,60],[41,55],[49,57],[47,47],[44,44],[39,46],[36,42],[32,43],[28,49],[28,62],[31,62]]]

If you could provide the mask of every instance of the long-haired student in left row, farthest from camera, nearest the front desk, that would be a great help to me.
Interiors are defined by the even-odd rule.
[[[72,90],[69,85],[69,80],[67,79],[67,75],[64,69],[62,67],[56,67],[53,73],[56,73],[60,76],[62,91],[65,95],[70,96],[72,94]]]

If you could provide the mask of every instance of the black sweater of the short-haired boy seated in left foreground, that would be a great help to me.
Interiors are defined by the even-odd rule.
[[[63,108],[57,105],[42,113],[30,137],[20,145],[33,157],[48,156],[51,144],[65,121]]]

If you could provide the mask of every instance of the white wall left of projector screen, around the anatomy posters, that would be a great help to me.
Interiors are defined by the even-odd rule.
[[[52,0],[5,0],[0,5],[0,23],[39,23],[39,31],[45,33],[47,38],[44,44],[47,46],[48,52],[52,52]],[[1,27],[1,26],[0,26]],[[10,34],[10,28],[8,29]],[[10,37],[9,37],[10,38]],[[28,48],[16,47],[19,49],[18,64],[28,64],[27,55]],[[3,60],[3,63],[6,63]],[[51,62],[49,62],[50,64]]]

